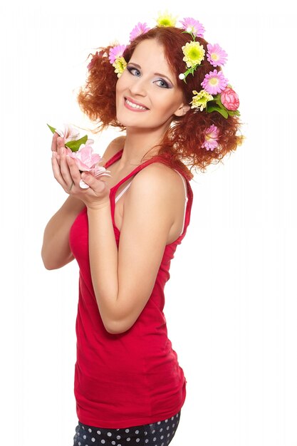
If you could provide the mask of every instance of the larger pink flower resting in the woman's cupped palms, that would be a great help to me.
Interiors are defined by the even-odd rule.
[[[105,175],[110,177],[109,170],[105,167],[99,166],[98,163],[102,160],[98,153],[93,153],[93,147],[90,145],[80,145],[77,152],[72,152],[72,150],[67,149],[67,155],[73,160],[75,160],[78,169],[82,172],[90,172],[94,177],[98,178],[100,175]],[[88,185],[85,184],[83,180],[80,180],[80,187],[83,189],[88,189]]]

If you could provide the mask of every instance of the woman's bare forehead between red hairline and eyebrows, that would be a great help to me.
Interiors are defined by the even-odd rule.
[[[141,67],[150,68],[152,71],[172,75],[162,44],[155,38],[142,41],[132,53],[130,62],[138,63]]]

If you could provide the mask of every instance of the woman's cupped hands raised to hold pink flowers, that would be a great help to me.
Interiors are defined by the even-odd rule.
[[[89,209],[100,209],[110,205],[110,188],[103,180],[98,180],[88,172],[80,175],[75,160],[66,155],[66,147],[63,138],[53,135],[51,145],[53,176],[63,187],[63,190],[72,197],[78,198],[85,203]],[[88,189],[80,187],[83,180]]]

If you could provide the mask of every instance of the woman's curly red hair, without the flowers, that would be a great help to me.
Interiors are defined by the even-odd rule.
[[[164,48],[167,62],[175,74],[177,85],[182,88],[184,98],[187,103],[192,101],[193,90],[202,90],[201,83],[209,71],[213,71],[213,66],[204,58],[199,68],[194,71],[194,76],[187,76],[187,83],[179,79],[179,73],[184,73],[186,66],[183,59],[182,46],[192,41],[189,33],[185,33],[181,28],[172,26],[152,28],[147,33],[135,38],[125,49],[123,56],[128,63],[136,46],[144,40],[156,39]],[[207,41],[204,38],[196,39],[207,53]],[[88,65],[89,74],[84,88],[80,88],[78,93],[78,104],[81,110],[88,115],[90,120],[95,121],[97,128],[95,132],[100,132],[104,128],[112,125],[125,130],[116,117],[115,108],[115,85],[118,77],[114,67],[108,59],[110,48],[99,48]],[[217,71],[220,68],[217,67]],[[206,150],[202,147],[205,138],[205,130],[212,124],[219,128],[219,146],[214,150]],[[207,113],[197,108],[191,108],[182,117],[175,117],[170,128],[167,129],[160,142],[157,157],[166,157],[172,167],[179,167],[189,179],[193,177],[192,172],[186,167],[189,166],[202,171],[214,162],[219,162],[229,152],[236,150],[241,144],[242,136],[238,135],[241,123],[237,116],[224,118],[219,112]]]

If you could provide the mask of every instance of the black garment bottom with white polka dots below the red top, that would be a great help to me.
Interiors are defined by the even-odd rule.
[[[103,429],[78,421],[73,446],[167,446],[179,425],[180,412],[168,420],[127,429]]]

